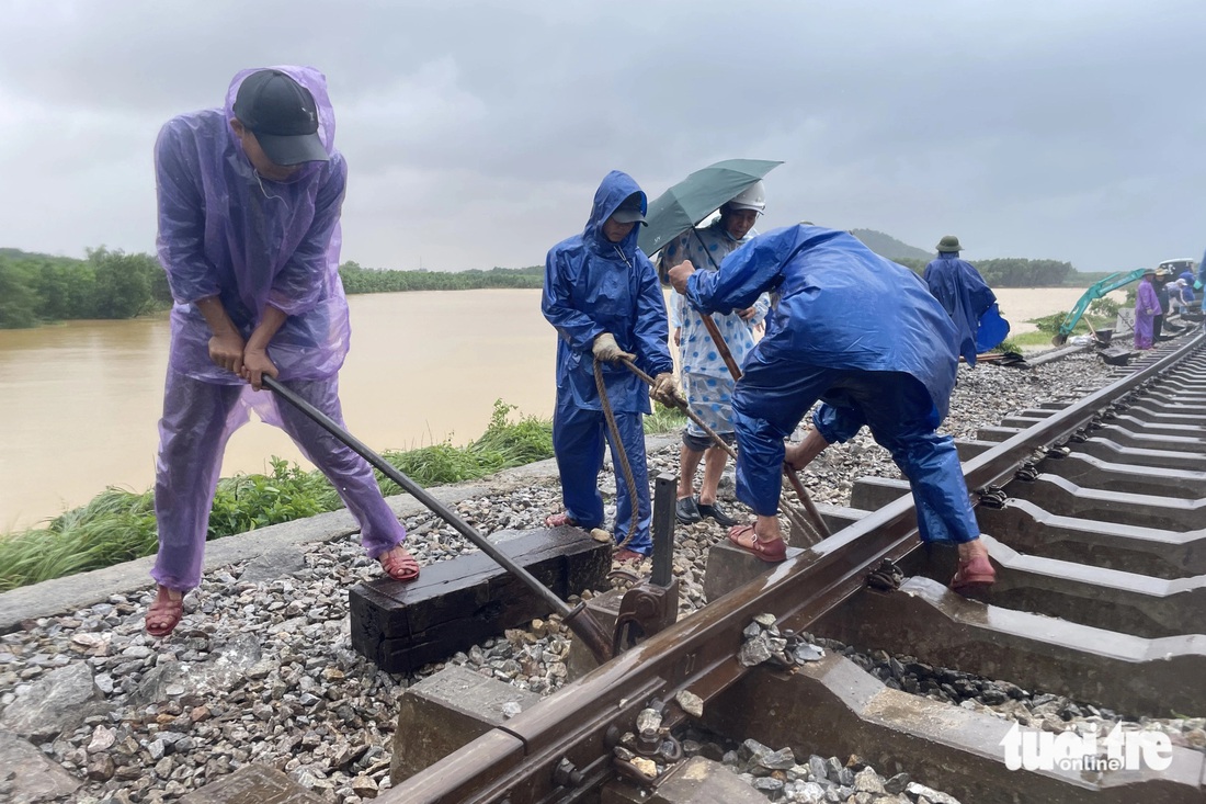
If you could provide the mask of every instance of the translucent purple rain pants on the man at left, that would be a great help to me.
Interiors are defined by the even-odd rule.
[[[344,424],[339,379],[285,381],[291,391]],[[236,408],[244,385],[218,385],[168,369],[159,420],[154,507],[159,553],[151,577],[169,589],[188,590],[201,582],[210,508],[227,441],[246,413]],[[260,391],[270,394],[270,391]],[[285,430],[339,493],[361,526],[361,544],[370,558],[399,544],[406,529],[391,511],[368,461],[289,404],[277,407]]]

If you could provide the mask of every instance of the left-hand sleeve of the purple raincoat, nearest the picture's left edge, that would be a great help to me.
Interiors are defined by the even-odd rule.
[[[156,141],[154,168],[159,206],[159,261],[172,298],[189,304],[219,292],[217,272],[205,256],[205,203],[192,129],[169,121]]]

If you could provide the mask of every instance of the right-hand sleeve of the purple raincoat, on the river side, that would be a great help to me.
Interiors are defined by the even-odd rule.
[[[274,278],[268,293],[268,303],[286,315],[309,313],[328,296],[329,250],[338,238],[346,188],[347,163],[336,153],[330,161],[327,181],[315,198],[310,228]]]

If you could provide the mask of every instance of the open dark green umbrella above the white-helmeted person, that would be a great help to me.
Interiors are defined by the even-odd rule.
[[[696,170],[649,204],[648,226],[640,227],[637,245],[646,255],[661,251],[780,164],[767,159],[725,159]]]

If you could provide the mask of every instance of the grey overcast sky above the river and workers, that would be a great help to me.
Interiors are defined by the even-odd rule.
[[[543,263],[599,180],[781,159],[808,219],[973,262],[1206,247],[1206,1],[0,0],[0,246],[154,247],[152,146],[250,66],[327,74],[344,260]]]

